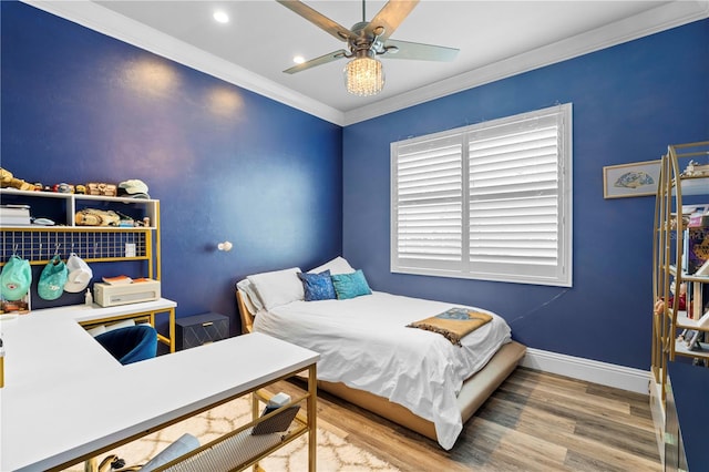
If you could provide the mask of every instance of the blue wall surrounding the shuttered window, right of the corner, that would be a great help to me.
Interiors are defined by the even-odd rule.
[[[374,289],[471,304],[538,349],[647,370],[653,197],[604,199],[605,165],[709,138],[709,20],[347,126],[343,250]],[[389,144],[574,105],[574,286],[391,274]]]

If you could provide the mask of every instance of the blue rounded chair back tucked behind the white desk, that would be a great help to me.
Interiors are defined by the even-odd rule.
[[[124,366],[157,355],[157,331],[148,325],[114,329],[94,339]]]

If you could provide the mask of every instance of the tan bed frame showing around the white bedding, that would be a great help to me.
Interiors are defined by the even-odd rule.
[[[236,290],[236,300],[242,316],[242,332],[251,332],[254,329],[254,316],[246,308],[238,289]],[[458,407],[461,411],[463,423],[477,411],[492,392],[514,371],[525,353],[525,346],[516,341],[508,342],[500,348],[485,367],[463,382],[458,396]],[[392,403],[386,398],[347,387],[341,382],[332,383],[318,380],[318,388],[438,441],[433,422],[413,414],[399,403]]]

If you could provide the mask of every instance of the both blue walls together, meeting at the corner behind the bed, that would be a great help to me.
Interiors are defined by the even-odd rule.
[[[2,166],[44,183],[145,181],[178,316],[234,317],[238,278],[343,252],[374,289],[487,307],[530,347],[648,368],[654,198],[605,201],[602,168],[709,137],[709,20],[342,131],[27,4],[0,12]],[[392,141],[566,102],[573,288],[389,271]],[[216,252],[225,239],[234,250]]]

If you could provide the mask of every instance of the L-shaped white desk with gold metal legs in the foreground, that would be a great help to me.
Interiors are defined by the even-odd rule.
[[[319,358],[253,334],[121,366],[79,325],[91,319],[90,310],[38,310],[0,322],[0,471],[66,466]],[[315,413],[315,400],[308,410]]]

